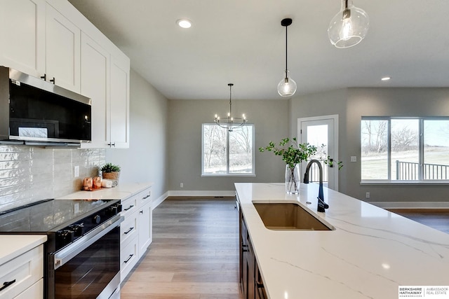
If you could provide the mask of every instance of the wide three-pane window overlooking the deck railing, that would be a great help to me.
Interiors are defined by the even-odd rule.
[[[449,118],[362,117],[361,180],[449,180]]]

